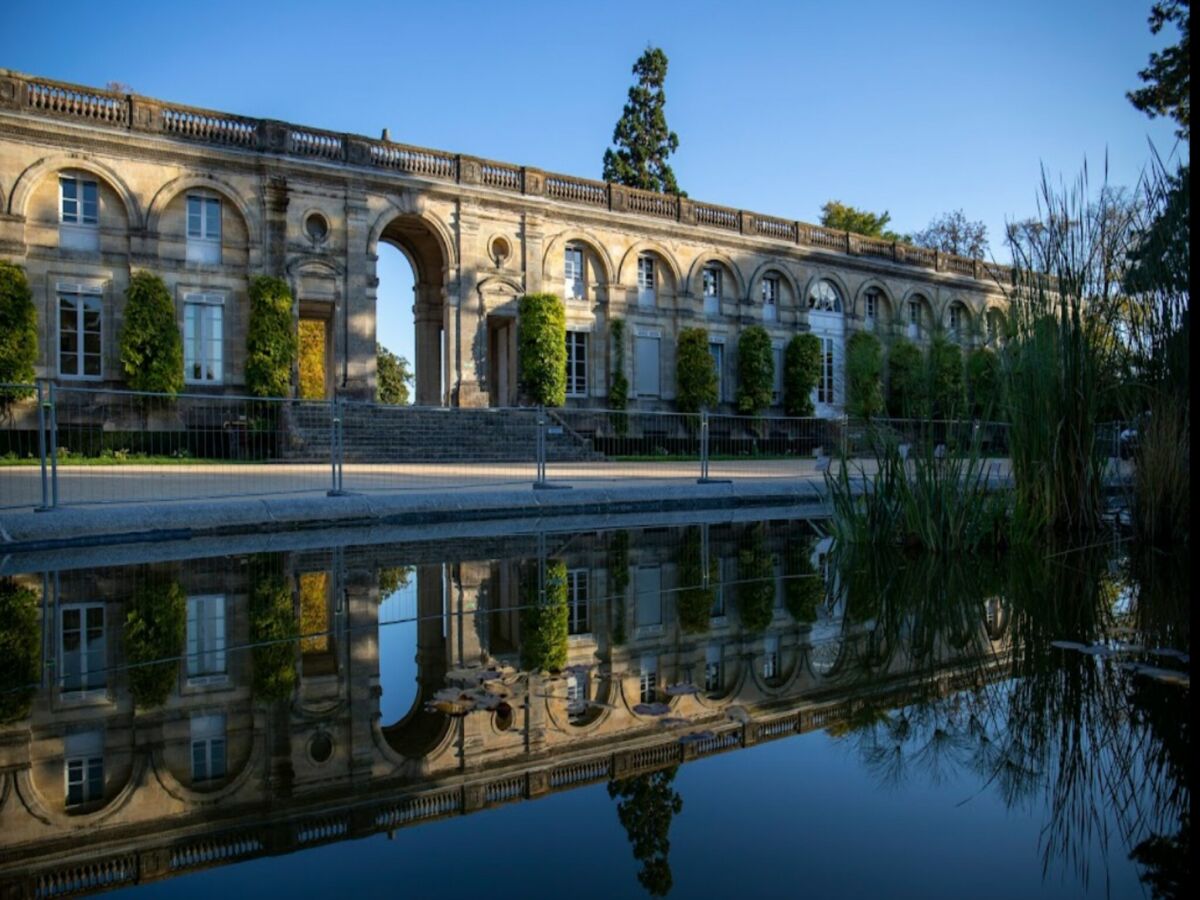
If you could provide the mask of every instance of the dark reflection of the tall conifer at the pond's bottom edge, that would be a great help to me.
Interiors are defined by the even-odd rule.
[[[668,832],[671,820],[683,810],[683,798],[671,787],[677,770],[608,782],[608,796],[620,798],[617,818],[634,845],[634,859],[642,864],[637,881],[653,896],[666,896],[673,883]]]

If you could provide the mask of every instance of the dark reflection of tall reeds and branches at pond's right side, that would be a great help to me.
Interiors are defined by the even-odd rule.
[[[895,648],[892,668],[917,676],[904,708],[881,715],[863,703],[858,712],[854,744],[882,782],[971,773],[1006,805],[1045,810],[1045,871],[1066,865],[1086,884],[1091,864],[1121,840],[1136,845],[1134,857],[1151,868],[1152,884],[1177,880],[1190,835],[1190,744],[1180,689],[1121,665],[1136,653],[1096,650],[1115,634],[1129,637],[1121,629],[1130,620],[1121,614],[1129,592],[1103,548],[1028,548],[997,565],[881,557],[839,563],[847,610],[866,602],[856,593],[876,592],[876,635]],[[1165,577],[1172,577],[1169,569]],[[1178,590],[1177,577],[1172,584],[1165,593]],[[1163,593],[1142,581],[1136,595],[1157,605],[1135,608],[1134,624],[1148,620],[1159,636],[1186,637],[1186,624],[1169,624]],[[997,595],[1006,598],[1008,625],[994,654],[984,617]],[[1180,606],[1176,600],[1186,616]],[[1142,638],[1156,642],[1150,635],[1133,640]],[[1094,652],[1052,644],[1062,641]],[[976,686],[943,697],[935,676],[949,664],[978,666]],[[870,684],[886,672],[862,665],[853,676]]]

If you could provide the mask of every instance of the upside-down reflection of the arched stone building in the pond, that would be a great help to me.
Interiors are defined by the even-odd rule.
[[[995,649],[995,611],[980,608],[978,641],[942,648],[934,666],[835,596],[798,614],[788,584],[823,584],[820,550],[805,526],[780,523],[514,536],[473,542],[469,559],[408,545],[22,577],[44,599],[42,683],[28,715],[0,726],[0,886],[73,893],[390,830],[980,677],[962,664]],[[448,671],[522,662],[540,554],[565,569],[569,670],[530,676],[500,709],[430,712]],[[406,578],[412,610],[382,602],[380,583]],[[132,659],[131,598],[168,581],[182,588],[182,659]],[[275,628],[272,596],[290,631]],[[415,684],[380,671],[397,626],[410,629]],[[167,673],[166,702],[138,708],[154,671]],[[683,682],[704,691],[665,694]],[[388,691],[412,696],[392,720]],[[595,703],[580,713],[582,700]],[[638,714],[650,700],[694,725]],[[680,743],[688,731],[706,736]]]

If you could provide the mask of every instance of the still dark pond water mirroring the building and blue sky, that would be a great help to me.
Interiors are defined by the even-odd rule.
[[[0,894],[1189,882],[1180,563],[530,527],[5,562]]]

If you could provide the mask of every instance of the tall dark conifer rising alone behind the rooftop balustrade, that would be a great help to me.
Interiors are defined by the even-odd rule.
[[[667,128],[664,112],[667,55],[658,47],[647,47],[634,64],[634,74],[637,83],[629,89],[629,101],[612,132],[614,148],[604,154],[604,180],[686,197],[667,164],[667,157],[679,149],[679,137]]]

